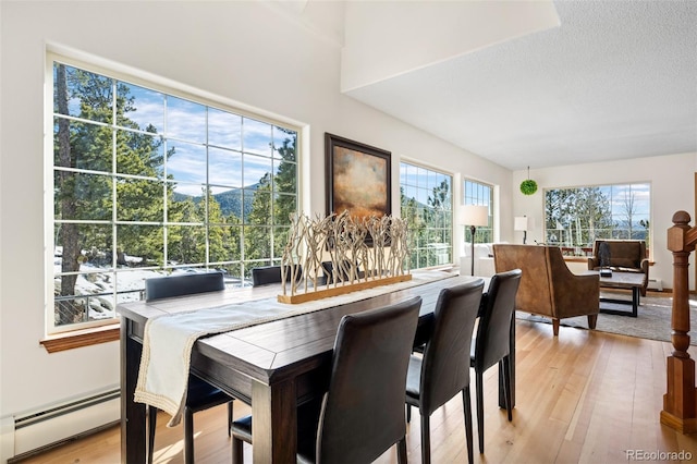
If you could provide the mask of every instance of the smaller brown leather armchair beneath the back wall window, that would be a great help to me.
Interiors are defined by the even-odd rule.
[[[646,296],[649,284],[649,260],[646,242],[643,240],[596,240],[592,256],[588,258],[589,270],[609,268],[613,272],[635,272],[644,274],[641,296]]]

